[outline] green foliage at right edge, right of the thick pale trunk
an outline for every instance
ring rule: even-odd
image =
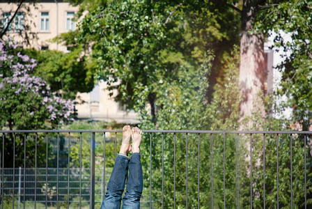
[[[279,93],[295,107],[296,120],[311,117],[311,8],[311,1],[270,1],[256,22],[256,30],[276,34],[272,47],[283,52],[284,59],[277,66],[283,74]]]

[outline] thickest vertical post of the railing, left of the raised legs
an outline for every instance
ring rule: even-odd
[[[117,135],[116,135],[117,136]],[[91,132],[91,157],[90,157],[90,166],[91,166],[91,173],[90,173],[90,209],[94,209],[95,207],[95,132]],[[115,147],[116,148],[116,147]],[[116,155],[116,153],[115,153]]]

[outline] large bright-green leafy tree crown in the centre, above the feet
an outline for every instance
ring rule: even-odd
[[[222,57],[228,48],[221,42],[235,42],[236,28],[226,22],[233,15],[221,15],[223,20],[212,13],[217,8],[204,5],[210,3],[111,1],[88,10],[79,41],[91,43],[100,78],[118,89],[116,100],[143,115],[150,104],[155,123],[162,107],[158,85],[176,80],[182,68],[198,68],[208,48],[219,47]]]

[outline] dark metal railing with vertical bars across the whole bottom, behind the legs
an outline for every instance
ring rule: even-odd
[[[141,208],[312,206],[312,132],[143,133]],[[99,208],[121,136],[122,130],[0,131],[1,209]]]

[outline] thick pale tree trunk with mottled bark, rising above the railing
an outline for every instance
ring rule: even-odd
[[[263,104],[263,84],[265,80],[265,54],[263,34],[251,33],[253,20],[258,10],[258,2],[245,0],[242,8],[242,34],[240,40],[240,130],[251,129],[253,112],[260,111],[265,116]],[[244,120],[247,120],[246,122]]]

